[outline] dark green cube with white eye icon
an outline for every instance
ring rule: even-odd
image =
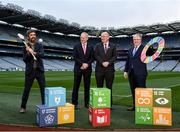
[[[171,89],[154,88],[153,89],[154,107],[171,107]]]

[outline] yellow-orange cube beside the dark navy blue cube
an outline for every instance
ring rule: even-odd
[[[74,105],[66,103],[58,107],[58,124],[74,123]]]

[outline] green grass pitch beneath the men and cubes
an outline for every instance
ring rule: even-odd
[[[46,86],[62,86],[67,90],[67,102],[71,102],[73,87],[73,72],[46,72]],[[147,87],[171,88],[173,106],[173,126],[180,128],[180,72],[149,72]],[[30,92],[27,104],[27,113],[19,114],[20,101],[24,87],[24,72],[0,72],[0,123],[35,125],[35,105],[40,103],[40,92],[37,82]],[[91,87],[96,87],[94,72],[91,78]],[[79,92],[79,103],[83,106],[83,81]],[[126,111],[132,104],[129,83],[123,78],[121,71],[116,71],[113,83],[113,105],[111,111],[111,126],[98,129],[123,128],[164,128],[160,126],[135,125],[134,112]],[[88,110],[81,108],[76,111],[74,124],[63,127],[92,128],[88,122]],[[171,127],[170,127],[171,128]]]

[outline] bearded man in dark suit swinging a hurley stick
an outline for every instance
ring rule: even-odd
[[[33,85],[34,79],[38,81],[42,104],[44,104],[44,88],[45,76],[43,66],[44,49],[43,46],[36,42],[36,32],[34,30],[27,31],[28,46],[23,47],[23,61],[26,64],[25,68],[25,87],[22,95],[22,103],[20,113],[26,112],[26,103],[29,97],[30,89]],[[37,60],[33,59],[32,54]]]

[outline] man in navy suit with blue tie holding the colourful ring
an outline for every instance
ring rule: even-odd
[[[146,87],[147,67],[146,64],[141,61],[141,52],[144,48],[141,42],[141,34],[135,34],[133,36],[133,47],[129,49],[124,69],[124,78],[129,79],[133,97],[133,107],[128,108],[128,111],[135,110],[135,88]]]

